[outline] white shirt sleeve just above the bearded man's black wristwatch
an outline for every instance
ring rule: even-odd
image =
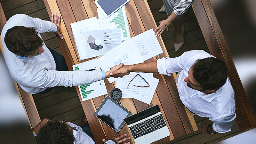
[[[212,120],[212,128],[215,132],[225,133],[231,131],[231,127],[235,122],[236,113],[222,116],[218,119]]]

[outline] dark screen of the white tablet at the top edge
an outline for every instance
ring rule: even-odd
[[[107,15],[114,12],[118,7],[127,2],[127,0],[99,0],[97,1]]]

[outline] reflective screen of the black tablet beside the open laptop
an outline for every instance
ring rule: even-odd
[[[110,127],[112,127],[113,129],[118,129],[128,113],[108,99],[98,112],[98,115],[99,116],[97,117],[99,117]]]

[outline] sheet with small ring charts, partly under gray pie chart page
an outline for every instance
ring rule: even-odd
[[[72,33],[76,43],[76,50],[78,53],[79,60],[92,58],[93,56],[86,56],[84,33],[87,30],[100,29],[100,23],[97,17],[74,22],[71,23],[70,26],[72,28]]]

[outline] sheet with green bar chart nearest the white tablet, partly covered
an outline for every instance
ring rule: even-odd
[[[106,18],[100,9],[97,8],[101,29],[122,28],[122,41],[131,38],[125,7]]]

